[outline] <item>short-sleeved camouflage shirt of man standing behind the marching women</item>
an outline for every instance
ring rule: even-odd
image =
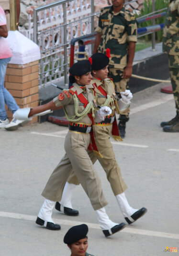
[[[101,35],[98,52],[111,50],[109,67],[123,69],[127,65],[129,42],[137,42],[137,23],[132,12],[123,8],[114,13],[112,6],[101,9],[99,25],[95,29]]]

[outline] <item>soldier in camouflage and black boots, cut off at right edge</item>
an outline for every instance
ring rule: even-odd
[[[163,51],[168,53],[169,73],[177,115],[168,122],[161,122],[164,132],[179,132],[179,0],[170,0],[166,14]]]

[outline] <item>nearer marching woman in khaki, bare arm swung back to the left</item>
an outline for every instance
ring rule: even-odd
[[[111,113],[111,109],[108,107],[95,110],[93,85],[90,84],[92,78],[90,72],[91,64],[88,60],[78,61],[69,69],[71,74],[69,80],[74,83],[69,90],[63,90],[58,97],[43,106],[32,110],[18,110],[14,116],[22,119],[25,111],[27,112],[26,116],[31,117],[45,110],[63,107],[69,121],[69,131],[65,139],[66,154],[56,166],[45,186],[42,193],[45,201],[39,211],[36,223],[50,230],[60,230],[60,225],[55,224],[52,219],[52,210],[56,201],[61,200],[63,189],[60,192],[60,188],[64,187],[70,173],[74,170],[89,197],[93,209],[97,213],[104,235],[109,236],[122,230],[126,225],[125,223],[112,222],[106,214],[104,207],[108,203],[102,192],[100,178],[94,170],[87,153],[91,137],[93,150],[100,155],[92,131],[94,117],[96,116],[102,121],[108,112]]]

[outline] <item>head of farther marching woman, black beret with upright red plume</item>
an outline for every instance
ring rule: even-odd
[[[108,77],[108,64],[110,61],[110,49],[106,49],[106,54],[96,52],[91,56],[92,75],[100,80]]]

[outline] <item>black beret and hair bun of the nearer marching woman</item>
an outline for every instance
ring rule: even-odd
[[[70,83],[75,83],[76,78],[75,76],[82,76],[83,74],[86,74],[88,72],[91,72],[91,63],[89,60],[83,60],[78,61],[74,63],[71,68],[69,69],[69,81]]]

